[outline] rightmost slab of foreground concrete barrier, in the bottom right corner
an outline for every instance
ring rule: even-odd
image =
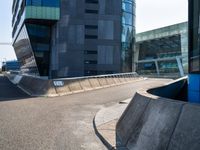
[[[188,104],[183,107],[169,150],[200,149],[200,106]]]

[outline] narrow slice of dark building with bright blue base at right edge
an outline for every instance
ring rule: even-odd
[[[200,103],[200,1],[189,0],[189,91],[190,102]]]

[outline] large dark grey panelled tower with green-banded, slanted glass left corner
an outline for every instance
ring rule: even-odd
[[[49,78],[132,71],[135,0],[14,0],[21,70]]]

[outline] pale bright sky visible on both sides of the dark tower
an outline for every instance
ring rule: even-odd
[[[0,1],[0,42],[11,42],[12,1]],[[143,32],[187,21],[188,0],[136,0],[136,31]],[[16,59],[12,46],[0,46],[1,61]]]

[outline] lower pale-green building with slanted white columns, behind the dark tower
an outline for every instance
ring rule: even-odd
[[[140,74],[188,73],[188,23],[136,35],[134,71]]]

